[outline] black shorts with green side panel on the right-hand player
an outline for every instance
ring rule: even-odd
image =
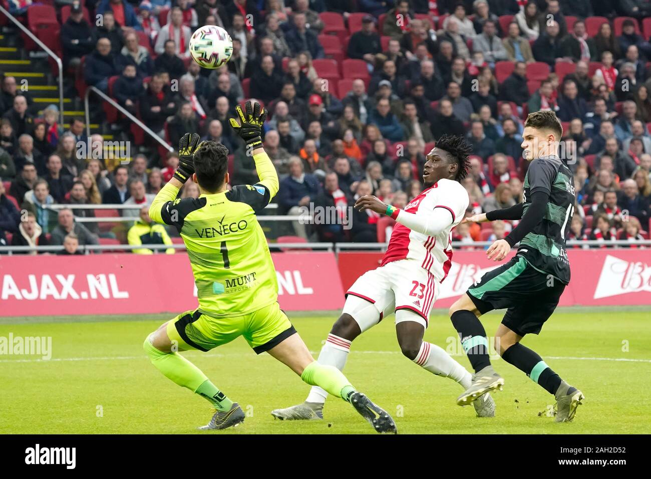
[[[561,280],[533,268],[515,255],[501,267],[490,270],[468,288],[468,296],[480,313],[506,310],[502,324],[524,336],[538,334],[565,289]]]

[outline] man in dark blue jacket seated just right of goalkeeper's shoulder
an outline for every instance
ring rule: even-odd
[[[281,182],[278,204],[284,213],[298,216],[303,212],[302,207],[307,207],[320,195],[321,186],[314,175],[303,172],[300,158],[290,159],[289,172],[289,176]],[[307,239],[303,222],[293,221],[292,225],[297,236]]]

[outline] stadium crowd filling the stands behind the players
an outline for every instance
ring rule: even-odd
[[[25,14],[31,2],[9,4]],[[522,199],[527,169],[523,119],[552,109],[575,175],[570,239],[648,239],[647,0],[87,0],[63,8],[66,85],[77,85],[76,75],[105,91],[173,147],[185,132],[221,141],[231,152],[231,184],[257,176],[227,119],[246,98],[262,102],[264,145],[281,179],[275,214],[330,207],[343,219],[365,194],[404,208],[421,192],[425,154],[443,134],[473,145],[467,215],[509,207]],[[102,22],[89,23],[89,11]],[[207,24],[233,40],[229,63],[217,70],[188,53],[191,33]],[[153,225],[143,206],[171,178],[174,154],[145,139],[145,154],[109,165],[85,154],[96,145],[104,151],[104,139],[85,138],[83,119],[63,128],[54,105],[39,116],[11,76],[1,90],[0,246],[61,244],[71,254],[75,242],[115,238],[75,220],[94,214],[75,208],[83,203],[134,205],[120,210],[135,221],[122,239],[172,243],[177,233]],[[130,123],[118,119],[117,138],[135,141]],[[186,184],[181,195],[199,190]],[[53,203],[70,209],[51,210]],[[393,221],[356,210],[346,218],[350,229],[345,221],[295,221],[293,233],[383,242]],[[473,248],[513,226],[486,225],[459,225],[454,239]]]

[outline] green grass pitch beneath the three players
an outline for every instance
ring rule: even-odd
[[[291,316],[315,356],[338,314]],[[197,433],[210,420],[208,403],[163,377],[142,349],[146,335],[170,317],[0,319],[0,337],[52,338],[50,360],[0,355],[0,433]],[[500,319],[498,313],[484,317],[489,336]],[[456,405],[459,385],[400,354],[393,317],[354,341],[344,373],[393,414],[398,433],[648,433],[650,320],[648,309],[564,309],[541,336],[525,338],[585,394],[572,423],[555,424],[546,415],[553,396],[501,359],[493,360],[506,381],[493,394],[497,416],[476,418],[473,407]],[[425,338],[469,367],[443,310],[432,314]],[[322,421],[273,420],[271,409],[303,401],[309,386],[270,356],[256,356],[242,338],[210,353],[184,355],[247,413],[236,429],[202,434],[374,433],[335,398],[328,399]]]

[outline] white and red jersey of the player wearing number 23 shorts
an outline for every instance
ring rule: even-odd
[[[400,259],[414,259],[438,282],[442,282],[452,266],[450,231],[464,219],[468,203],[468,193],[458,181],[441,179],[421,192],[405,207],[406,212],[417,215],[431,214],[436,208],[444,208],[450,212],[452,222],[436,236],[417,233],[396,223],[381,266]]]

